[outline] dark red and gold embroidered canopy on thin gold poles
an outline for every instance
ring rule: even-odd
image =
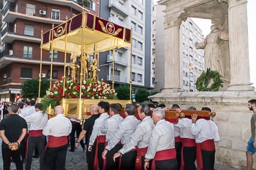
[[[42,34],[42,49],[66,53],[81,53],[86,46],[86,53],[92,55],[113,48],[129,47],[132,31],[118,26],[87,12],[82,12],[59,26]]]

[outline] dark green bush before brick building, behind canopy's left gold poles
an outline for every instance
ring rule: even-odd
[[[40,97],[45,96],[46,90],[50,86],[50,81],[43,79],[41,82],[41,90],[40,90]],[[38,98],[38,88],[39,88],[39,80],[38,79],[31,79],[26,80],[23,82],[21,87],[21,94],[23,98]]]

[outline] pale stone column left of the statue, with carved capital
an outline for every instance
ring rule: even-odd
[[[162,92],[181,90],[179,28],[185,16],[184,11],[165,16],[165,87]]]

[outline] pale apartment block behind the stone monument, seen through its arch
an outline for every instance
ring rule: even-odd
[[[155,90],[161,91],[165,85],[165,6],[156,4],[154,20],[155,39]],[[203,33],[191,18],[180,26],[180,80],[182,91],[196,91],[197,77],[205,70],[203,50],[195,49],[195,42],[203,41]],[[178,63],[178,61],[177,61]]]

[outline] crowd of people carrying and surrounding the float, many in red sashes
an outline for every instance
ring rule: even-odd
[[[249,109],[255,108],[255,101],[249,101]],[[182,111],[178,104],[170,109]],[[69,144],[70,152],[80,144],[89,170],[214,170],[214,142],[220,137],[213,119],[192,114],[172,122],[165,118],[165,110],[165,104],[127,104],[123,109],[121,104],[99,101],[80,125],[64,117],[61,105],[48,119],[42,104],[34,100],[10,104],[0,122],[3,169],[9,170],[12,160],[18,170],[23,163],[31,169],[37,150],[40,170],[64,170]],[[201,110],[211,112],[208,107]],[[254,152],[247,150],[249,161]]]

